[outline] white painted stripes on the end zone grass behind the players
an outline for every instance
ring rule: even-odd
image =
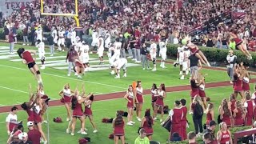
[[[0,46],[0,60],[2,60],[2,59],[8,59],[12,62],[22,62],[22,59],[18,57],[18,54],[11,55],[9,53],[8,46]],[[105,60],[104,65],[98,65],[98,63],[99,63],[98,58],[90,58],[89,62],[90,62],[90,71],[110,69],[110,64],[109,64],[108,60]],[[39,66],[41,65],[39,58],[37,58],[37,64]],[[68,63],[66,62],[66,55],[50,57],[50,53],[46,53],[45,66],[46,66],[46,69],[47,69],[47,67],[51,67],[51,68],[54,68],[57,70],[67,70]],[[140,66],[140,65],[134,64],[134,63],[128,63],[127,67],[130,67],[130,66]]]

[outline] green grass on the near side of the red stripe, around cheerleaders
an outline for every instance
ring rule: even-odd
[[[230,92],[232,91],[231,86],[225,86],[225,87],[219,87],[219,88],[208,88],[206,89],[206,94],[210,96],[211,102],[214,103],[214,111],[215,111],[215,120],[217,120],[218,117],[218,106],[221,102],[222,98],[228,98],[230,95]],[[189,107],[190,102],[190,96],[189,91],[182,91],[182,92],[172,92],[167,94],[167,98],[165,99],[165,105],[170,106],[172,108],[174,106],[174,101],[180,98],[186,98],[187,101],[187,107]],[[150,105],[150,95],[145,96],[145,104],[143,106],[143,112],[146,110],[146,108],[151,109]],[[98,127],[98,133],[93,134],[93,128],[90,125],[90,122],[88,119],[86,119],[86,128],[89,130],[87,137],[90,137],[92,142],[94,144],[110,144],[114,143],[113,140],[110,140],[108,138],[108,135],[112,132],[112,126],[111,124],[102,123],[102,118],[114,118],[116,110],[126,110],[126,100],[123,98],[117,99],[117,100],[111,100],[111,101],[102,101],[102,102],[94,102],[93,106],[93,113],[94,113],[94,122],[96,123],[96,126]],[[151,111],[152,114],[152,111]],[[3,123],[7,114],[0,114],[0,127],[2,127],[2,130],[0,131],[0,143],[6,142],[6,128],[5,124]],[[24,111],[18,112],[18,120],[23,120],[23,122],[26,123],[26,113]],[[82,138],[81,134],[75,134],[74,136],[71,136],[70,134],[66,134],[66,126],[68,125],[68,122],[63,123],[54,123],[52,121],[53,118],[61,117],[62,120],[66,120],[66,110],[64,106],[56,106],[56,107],[50,107],[49,108],[49,119],[50,119],[50,141],[51,143],[70,143],[75,144],[78,143],[78,138]],[[166,118],[166,114],[164,118]],[[158,115],[159,117],[159,115]],[[203,116],[203,123],[206,122],[205,119],[206,115]],[[190,128],[187,129],[188,131],[194,130],[194,124],[192,122],[192,115],[187,115],[187,118],[190,122]],[[126,120],[126,118],[125,118]],[[134,122],[136,124],[134,126],[126,126],[126,142],[129,144],[134,142],[134,139],[137,138],[138,134],[138,126],[139,122],[136,119],[136,116],[134,115]],[[77,122],[76,130],[79,130],[79,123]],[[46,132],[46,124],[44,124],[44,131]],[[26,126],[25,126],[26,129]],[[218,130],[218,128],[216,128]],[[153,138],[156,141],[159,141],[161,143],[165,143],[166,139],[169,137],[169,133],[160,126],[159,120],[154,122],[154,135]]]

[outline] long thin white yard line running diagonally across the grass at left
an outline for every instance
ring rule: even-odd
[[[6,66],[6,65],[1,65],[1,64],[0,64],[0,66],[9,67],[9,68],[12,68],[12,69],[17,69],[17,70],[26,70],[26,71],[29,71],[29,70],[27,70],[27,69],[22,69],[22,68],[18,68],[18,67],[14,67],[14,66]],[[49,74],[49,73],[45,73],[45,72],[43,72],[42,74],[46,74],[46,75],[50,75],[50,76],[54,76],[54,77],[58,77],[58,78],[66,78],[66,79],[71,79],[71,80],[76,80],[76,81],[81,81],[81,82],[88,82],[88,83],[93,83],[93,84],[97,84],[97,85],[109,86],[109,87],[114,87],[114,88],[126,90],[126,88],[124,88],[124,87],[112,86],[112,85],[108,85],[108,84],[104,84],[104,83],[100,83],[100,82],[83,81],[83,80],[79,80],[79,79],[77,79],[77,78],[68,78],[68,77],[64,77],[64,76],[57,75],[57,74]]]

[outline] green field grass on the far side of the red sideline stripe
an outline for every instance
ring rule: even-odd
[[[0,46],[9,46],[6,43],[0,43]],[[15,46],[15,50],[18,49]],[[26,46],[26,49],[36,49],[33,46]],[[57,50],[56,50],[57,51]],[[46,52],[49,52],[46,49]],[[65,55],[66,52],[60,52],[55,55]],[[46,58],[49,54],[46,54]],[[96,58],[96,54],[90,55],[91,58]],[[15,56],[14,58],[18,58]],[[34,76],[30,74],[27,66],[22,64],[22,62],[11,62],[11,59],[0,60],[1,71],[0,74],[0,90],[5,91],[5,95],[11,95],[11,98],[2,98],[0,105],[11,105],[18,101],[26,101],[28,91],[28,84],[31,83],[33,89],[36,89],[37,82]],[[52,59],[50,59],[52,60]],[[40,63],[40,62],[38,62]],[[150,62],[151,64],[151,62]],[[159,63],[158,63],[159,65]],[[91,71],[85,74],[82,80],[78,80],[74,75],[67,77],[67,70],[56,70],[52,67],[46,67],[45,70],[41,70],[42,79],[45,85],[46,94],[50,95],[51,98],[59,98],[58,91],[62,90],[62,86],[69,82],[71,89],[74,90],[77,82],[85,82],[86,91],[94,92],[95,94],[106,94],[113,93],[115,91],[124,91],[127,86],[136,80],[142,81],[142,86],[144,89],[150,88],[153,82],[158,85],[162,82],[166,86],[180,86],[187,85],[188,80],[179,80],[179,69],[174,66],[167,64],[167,69],[158,68],[158,71],[152,72],[151,70],[142,70],[142,66],[133,66],[127,68],[127,78],[114,79],[113,75],[110,75],[110,70],[98,70]],[[122,73],[122,71],[121,71]],[[226,76],[226,72],[216,70],[202,70],[203,74],[208,74],[206,82],[220,82],[226,81],[229,78]],[[121,74],[122,75],[122,74]],[[6,90],[5,88],[10,88],[20,91]],[[13,93],[13,94],[12,94]]]

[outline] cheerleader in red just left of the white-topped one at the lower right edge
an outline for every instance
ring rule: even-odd
[[[233,110],[234,126],[244,126],[244,118],[246,113],[242,107],[242,102],[235,102],[235,109]]]

